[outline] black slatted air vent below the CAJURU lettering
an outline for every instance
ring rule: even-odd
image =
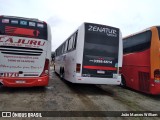
[[[15,47],[15,46],[0,46],[0,51],[3,54],[28,55],[28,56],[40,56],[43,52],[43,50],[40,48]]]

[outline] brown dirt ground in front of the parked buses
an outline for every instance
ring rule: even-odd
[[[71,84],[51,68],[47,87],[0,87],[0,111],[160,111],[160,96],[120,86]],[[158,117],[44,117],[4,120],[158,120]],[[0,118],[0,120],[3,120]]]

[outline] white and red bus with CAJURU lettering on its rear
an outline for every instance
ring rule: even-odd
[[[0,84],[47,86],[51,32],[46,22],[0,16]]]

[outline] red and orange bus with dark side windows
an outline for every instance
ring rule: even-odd
[[[160,94],[160,26],[123,38],[122,85]]]

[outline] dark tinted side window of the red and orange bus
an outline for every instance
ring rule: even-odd
[[[151,34],[151,31],[146,31],[123,39],[123,52],[132,53],[148,49],[151,43]]]

